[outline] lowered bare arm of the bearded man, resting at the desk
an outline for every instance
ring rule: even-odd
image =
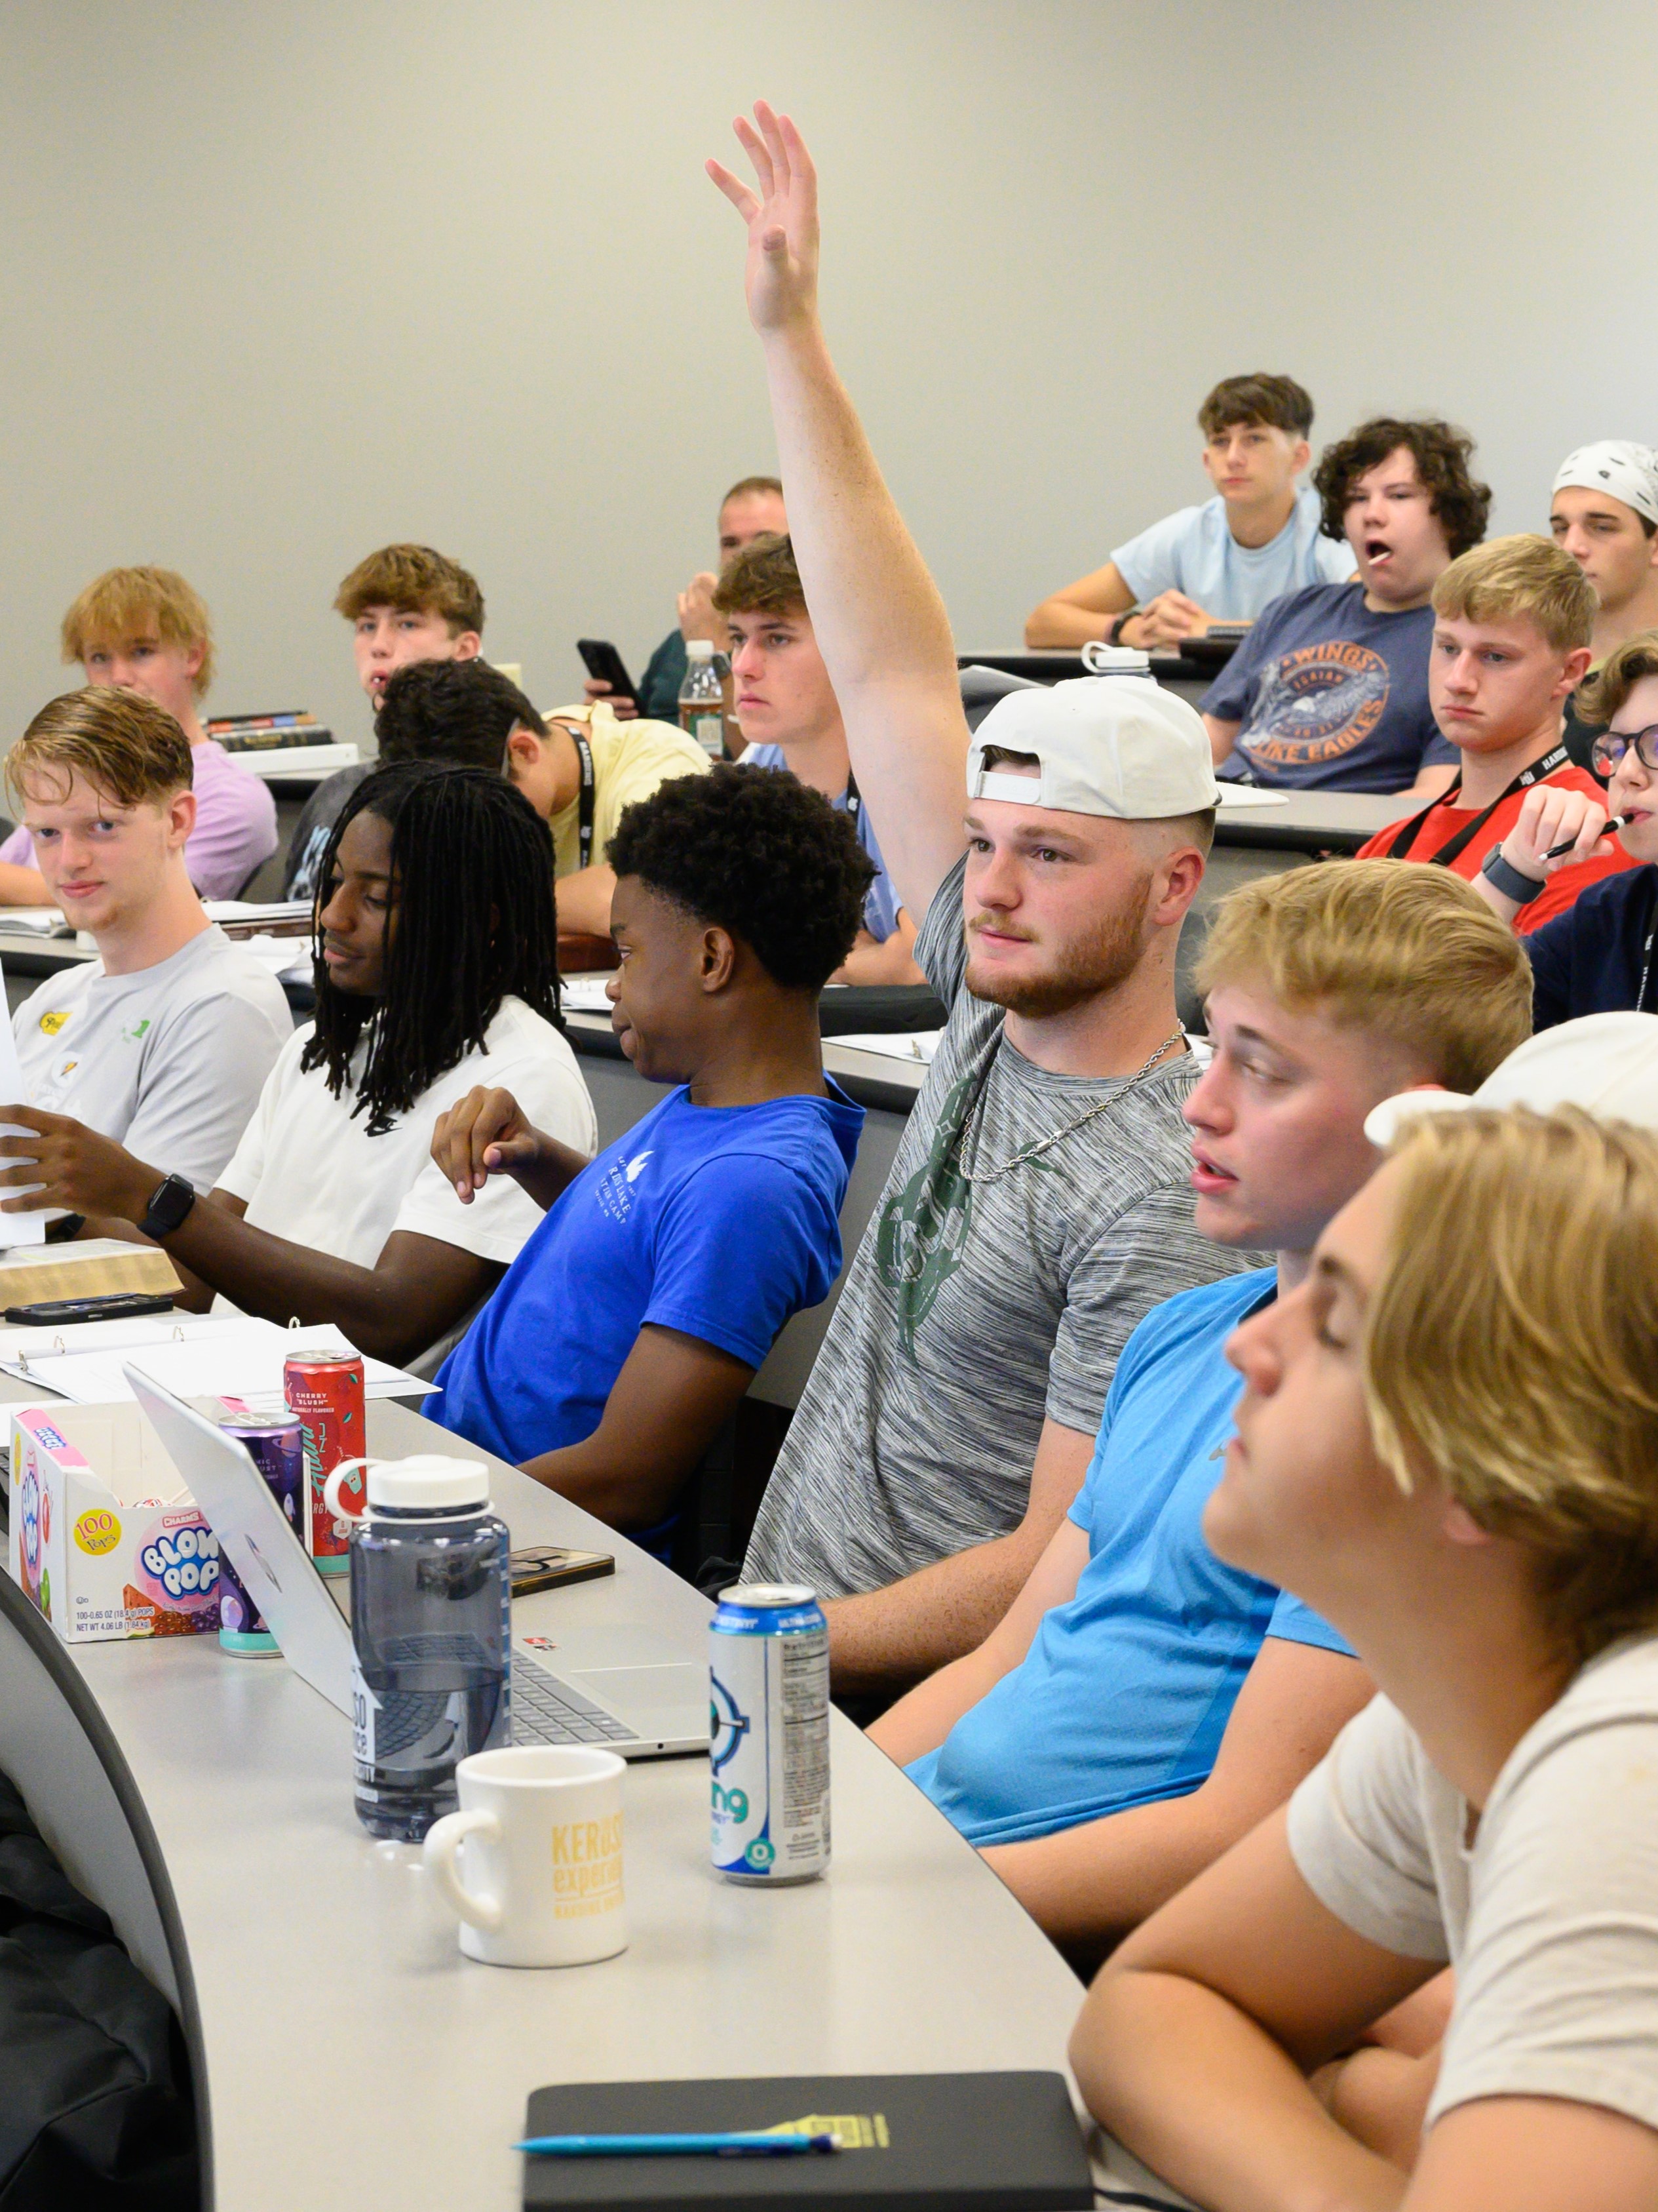
[[[836,1690],[891,1690],[977,1650],[1070,1511],[1092,1451],[1092,1436],[1061,1429],[1057,1420],[1043,1422],[1030,1469],[1030,1502],[1017,1528],[951,1559],[935,1559],[884,1590],[833,1599],[825,1610]]]

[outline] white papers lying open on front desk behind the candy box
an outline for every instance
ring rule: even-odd
[[[323,1345],[343,1345],[345,1338],[327,1323],[309,1329],[279,1329],[274,1321],[250,1321],[248,1316],[206,1316],[217,1327],[203,1332],[188,1323],[157,1325],[164,1336],[148,1343],[119,1345],[111,1338],[95,1347],[66,1347],[64,1352],[29,1352],[29,1363],[2,1360],[7,1374],[40,1383],[44,1389],[73,1400],[75,1405],[117,1405],[133,1391],[124,1376],[130,1360],[146,1376],[175,1391],[179,1398],[245,1398],[256,1411],[281,1405],[283,1360],[290,1352],[314,1352]],[[84,1323],[82,1327],[97,1327]],[[51,1332],[33,1332],[51,1334]],[[73,1338],[75,1329],[55,1332]],[[365,1389],[369,1398],[424,1396],[436,1385],[420,1383],[400,1367],[385,1360],[363,1360]]]

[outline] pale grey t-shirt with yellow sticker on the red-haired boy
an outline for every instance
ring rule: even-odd
[[[210,925],[170,960],[60,969],[11,1015],[29,1104],[210,1190],[294,1015],[270,969]]]

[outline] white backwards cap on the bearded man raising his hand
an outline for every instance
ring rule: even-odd
[[[986,750],[1035,754],[1041,774],[986,768]],[[1143,823],[1220,805],[1220,785],[1196,708],[1150,677],[1110,675],[997,699],[973,734],[968,799]]]

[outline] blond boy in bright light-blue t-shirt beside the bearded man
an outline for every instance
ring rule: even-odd
[[[1525,956],[1468,885],[1326,860],[1214,916],[1214,1060],[1185,1102],[1205,1237],[1276,1250],[1156,1307],[1088,1480],[1006,1619],[871,1730],[1070,1955],[1099,1958],[1282,1803],[1371,1686],[1318,1615],[1216,1559],[1236,1325],[1304,1279],[1375,1166],[1364,1117],[1472,1091],[1530,1029]]]

